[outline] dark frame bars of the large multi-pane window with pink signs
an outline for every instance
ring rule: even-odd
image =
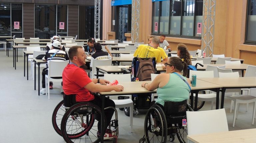
[[[194,36],[195,35],[195,22],[196,22],[196,7],[197,7],[197,0],[195,0],[195,10],[194,10],[194,15],[193,15],[193,36],[185,36],[185,35],[182,35],[182,17],[183,17],[183,14],[184,14],[184,0],[181,0],[181,16],[180,16],[180,34],[179,35],[171,35],[170,34],[170,24],[171,24],[171,2],[172,0],[169,0],[170,2],[170,7],[169,7],[169,25],[168,25],[168,34],[160,34],[159,32],[159,28],[160,28],[160,17],[161,17],[161,14],[162,14],[162,1],[159,1],[159,16],[158,16],[158,32],[157,34],[156,33],[153,33],[153,26],[154,26],[154,23],[153,23],[153,13],[154,13],[154,3],[155,2],[152,2],[152,27],[151,27],[151,35],[155,35],[155,36],[160,36],[160,35],[165,35],[165,36],[171,36],[171,37],[180,37],[180,38],[194,38],[194,39],[201,39],[201,36]]]

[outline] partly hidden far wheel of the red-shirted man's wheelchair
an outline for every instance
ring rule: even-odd
[[[61,119],[64,115],[64,113],[66,112],[66,109],[64,107],[62,107],[62,105],[64,104],[64,101],[62,100],[53,110],[52,113],[52,125],[54,130],[60,135],[61,135],[61,131],[60,131],[60,124],[61,124]]]

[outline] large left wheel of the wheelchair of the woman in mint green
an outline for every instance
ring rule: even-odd
[[[167,140],[167,122],[161,107],[153,105],[146,113],[144,134],[147,143],[165,143]]]

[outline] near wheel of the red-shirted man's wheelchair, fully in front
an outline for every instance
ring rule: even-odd
[[[97,136],[97,131],[100,117],[101,110],[94,104],[83,102],[73,105],[61,120],[62,137],[67,143],[99,142],[100,136]],[[106,117],[104,117],[105,122]],[[105,124],[104,128],[106,128]]]

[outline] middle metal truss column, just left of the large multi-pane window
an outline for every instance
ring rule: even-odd
[[[140,0],[132,0],[132,27],[131,27],[132,42],[139,42],[139,15],[140,15]]]

